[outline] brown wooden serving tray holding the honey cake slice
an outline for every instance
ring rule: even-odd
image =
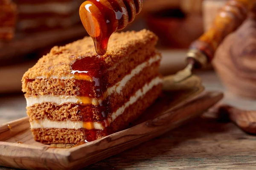
[[[172,82],[172,77],[167,77],[164,84],[168,82]],[[47,145],[35,142],[28,117],[1,125],[0,165],[22,169],[85,167],[183,125],[223,97],[219,92],[202,93],[201,80],[195,76],[181,88],[170,87],[165,87],[169,92],[164,92],[131,127],[85,144]]]

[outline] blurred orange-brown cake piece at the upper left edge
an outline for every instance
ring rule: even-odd
[[[0,0],[0,40],[12,40],[16,26],[16,5],[10,0]]]

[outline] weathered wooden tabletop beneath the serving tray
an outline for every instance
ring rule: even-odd
[[[256,110],[255,101],[226,91],[214,71],[198,75],[207,90],[225,92],[222,102]],[[23,116],[26,116],[23,95],[0,97],[0,124]],[[256,169],[255,156],[256,136],[244,133],[231,122],[205,116],[86,169]]]

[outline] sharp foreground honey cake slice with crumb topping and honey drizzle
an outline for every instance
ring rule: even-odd
[[[151,31],[114,33],[104,56],[90,37],[53,47],[23,76],[34,139],[89,142],[127,127],[161,94]]]

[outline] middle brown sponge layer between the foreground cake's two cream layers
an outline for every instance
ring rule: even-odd
[[[160,61],[158,60],[157,62],[148,65],[148,67],[144,68],[140,74],[132,77],[125,87],[122,88],[120,93],[115,92],[108,96],[108,98],[102,102],[106,108],[105,115],[109,115],[109,113],[116,111],[119,107],[124,105],[125,102],[128,102],[130,96],[133,96],[146,82],[150,82],[154,77],[158,77],[159,64]],[[81,121],[81,118],[84,117],[84,121],[87,122],[93,120],[102,121],[105,119],[105,117],[99,113],[96,106],[70,102],[61,105],[54,102],[37,103],[27,107],[27,114],[31,120],[49,119],[52,121]]]

